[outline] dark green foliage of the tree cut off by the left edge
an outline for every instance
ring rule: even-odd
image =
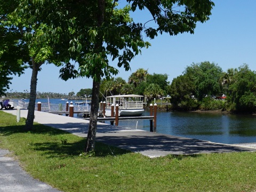
[[[18,21],[11,17],[11,13],[18,5],[18,1],[0,1],[0,95],[5,95],[11,75],[20,76],[26,68],[24,63],[29,61],[27,46],[22,42]],[[24,61],[24,62],[21,62]]]

